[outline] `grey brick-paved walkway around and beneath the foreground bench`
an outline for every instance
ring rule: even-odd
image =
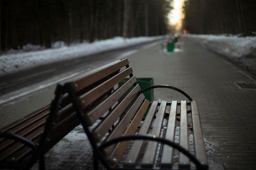
[[[225,170],[255,170],[256,91],[241,90],[235,84],[254,80],[191,40],[185,38],[183,43],[183,52],[171,55],[160,52],[157,45],[129,56],[135,75],[154,77],[155,84],[177,86],[198,101],[208,159],[215,165],[211,170],[222,166]],[[155,99],[180,97],[167,91],[156,90]],[[84,135],[80,130],[78,127],[46,154],[47,169],[92,169],[86,137],[72,140]]]

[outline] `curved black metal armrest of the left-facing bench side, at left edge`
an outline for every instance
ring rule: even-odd
[[[18,141],[20,143],[23,143],[24,145],[37,150],[38,146],[36,145],[36,143],[32,142],[31,140],[17,135],[17,134],[9,134],[9,133],[0,133],[0,138],[6,138],[6,139],[13,139],[15,141]]]

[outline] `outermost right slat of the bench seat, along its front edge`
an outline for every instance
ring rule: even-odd
[[[205,153],[203,133],[202,133],[201,122],[200,122],[196,101],[191,102],[191,110],[192,110],[192,124],[193,124],[196,157],[200,161],[201,165],[205,169],[207,169],[208,163],[207,163],[207,158]]]

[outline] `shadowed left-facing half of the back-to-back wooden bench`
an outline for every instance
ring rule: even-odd
[[[61,85],[51,105],[0,129],[0,169],[30,169],[39,160],[44,170],[44,154],[71,132],[80,121]]]

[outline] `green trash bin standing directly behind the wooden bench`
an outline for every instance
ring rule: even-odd
[[[127,81],[127,79],[122,80],[118,83],[118,86],[121,86],[124,84],[124,82]],[[154,85],[154,78],[137,78],[137,83],[140,86],[141,90],[150,87]],[[150,102],[154,101],[154,89],[148,90],[144,93],[147,100]]]

